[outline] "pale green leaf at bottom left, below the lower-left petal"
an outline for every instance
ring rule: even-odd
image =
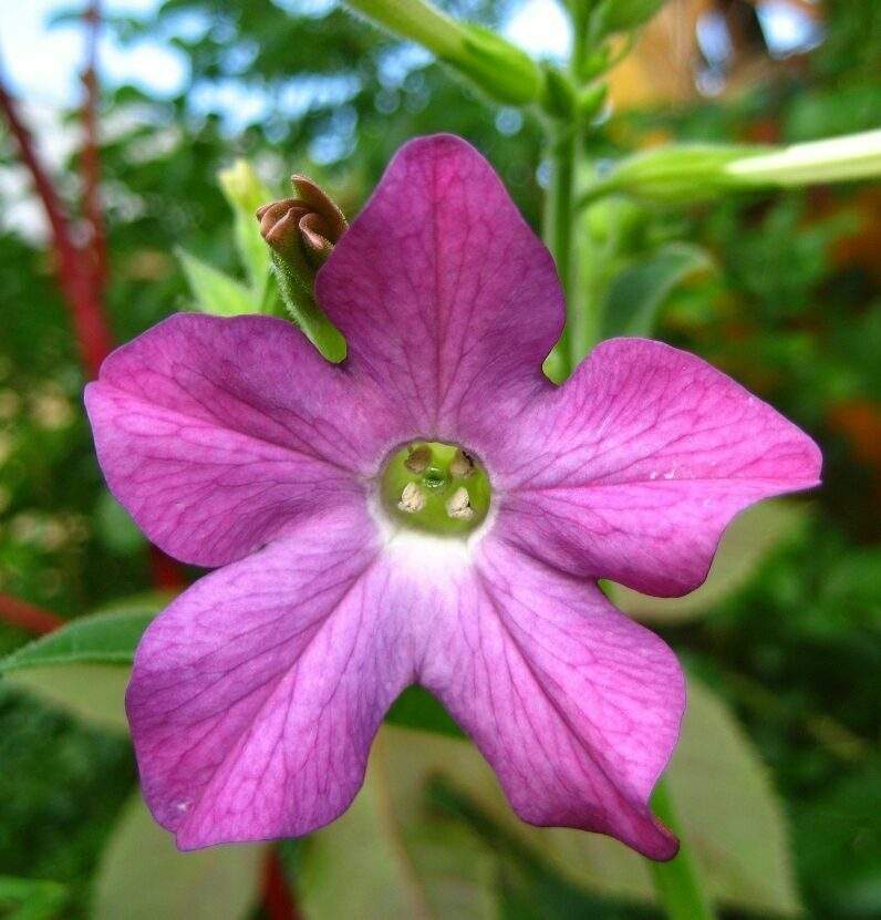
[[[95,878],[94,920],[242,920],[257,899],[266,846],[179,852],[141,795],[123,812]]]

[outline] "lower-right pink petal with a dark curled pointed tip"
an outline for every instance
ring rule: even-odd
[[[518,815],[674,856],[647,805],[685,706],[671,650],[595,585],[495,540],[447,607],[419,681],[474,737]]]

